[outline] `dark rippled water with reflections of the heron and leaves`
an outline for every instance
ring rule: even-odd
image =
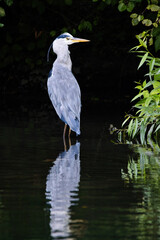
[[[2,114],[0,240],[160,239],[160,157],[112,143],[118,116],[82,117],[64,151],[53,113]]]

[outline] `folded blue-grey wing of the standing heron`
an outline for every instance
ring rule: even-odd
[[[48,92],[57,114],[64,122],[69,111],[80,120],[81,93],[71,71],[61,64],[54,65],[48,78]]]

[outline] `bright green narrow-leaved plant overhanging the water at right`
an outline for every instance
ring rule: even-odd
[[[135,116],[126,115],[122,126],[126,125],[126,132],[130,139],[139,136],[141,144],[146,139],[155,136],[160,130],[160,58],[154,57],[147,49],[146,33],[138,35],[139,45],[132,49],[141,58],[138,69],[145,63],[148,66],[147,79],[138,82],[138,94],[132,101],[138,100],[134,105],[137,109]],[[139,48],[143,48],[140,51]]]

